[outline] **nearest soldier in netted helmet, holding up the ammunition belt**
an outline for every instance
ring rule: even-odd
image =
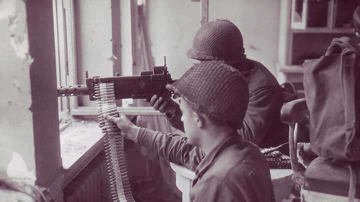
[[[122,137],[167,161],[197,161],[192,202],[274,201],[267,161],[236,131],[243,127],[248,104],[247,82],[239,71],[219,61],[203,61],[166,87],[179,96],[186,138],[137,127],[124,116],[104,118],[121,129]]]

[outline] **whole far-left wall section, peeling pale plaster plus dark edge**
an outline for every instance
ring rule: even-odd
[[[61,200],[53,28],[52,1],[0,1],[0,176]]]

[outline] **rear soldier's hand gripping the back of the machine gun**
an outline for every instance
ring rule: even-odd
[[[159,97],[158,95],[153,95],[151,99],[146,99],[146,102],[161,113],[171,113],[174,114],[176,111],[177,104],[170,97],[164,98]]]

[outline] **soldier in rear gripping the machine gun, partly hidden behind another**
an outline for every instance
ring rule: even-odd
[[[245,77],[249,88],[249,104],[241,120],[241,130],[238,130],[243,140],[260,148],[288,141],[287,126],[280,121],[282,90],[265,66],[246,58],[241,32],[232,22],[218,19],[203,24],[196,32],[187,56],[200,61],[223,61]],[[183,131],[181,111],[175,102],[157,95],[147,101],[155,110],[166,113],[173,127]]]

